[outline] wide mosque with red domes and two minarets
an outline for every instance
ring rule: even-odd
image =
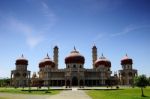
[[[137,70],[132,68],[133,60],[127,55],[121,59],[122,70],[111,76],[111,61],[103,54],[98,58],[97,47],[92,47],[91,69],[84,68],[85,57],[74,48],[64,61],[66,67],[59,69],[59,48],[54,47],[53,59],[47,56],[39,62],[38,74],[27,70],[28,60],[22,55],[16,60],[16,69],[11,71],[11,85],[25,86],[106,86],[109,81],[117,85],[132,85]]]

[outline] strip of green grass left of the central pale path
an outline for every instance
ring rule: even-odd
[[[1,93],[14,93],[14,94],[39,94],[39,95],[54,95],[54,94],[58,94],[60,93],[60,90],[51,90],[49,89],[49,91],[40,91],[40,90],[43,90],[43,89],[39,89],[39,90],[35,90],[33,89],[34,91],[32,91],[31,89],[31,92],[29,91],[22,91],[23,89],[22,88],[0,88],[0,92]],[[28,90],[28,88],[24,88],[24,90]],[[0,97],[0,99],[5,99],[3,97]]]

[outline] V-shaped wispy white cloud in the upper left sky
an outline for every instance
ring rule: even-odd
[[[37,1],[33,2],[37,3]],[[44,21],[45,23],[43,22],[41,24],[41,28],[36,28],[35,26],[33,27],[32,23],[22,21],[17,17],[14,17],[12,14],[7,13],[2,13],[3,15],[5,15],[5,17],[1,18],[4,21],[0,23],[0,28],[9,31],[8,33],[18,33],[18,35],[24,37],[26,44],[30,48],[36,47],[46,39],[45,35],[49,33],[48,31],[52,26],[54,26],[56,21],[56,16],[49,8],[48,4],[45,1],[40,1],[38,3],[40,3],[40,7],[38,6],[37,9],[41,11],[40,14],[43,15],[42,18],[44,20],[47,20],[46,22]]]

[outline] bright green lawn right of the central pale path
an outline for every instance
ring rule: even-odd
[[[150,87],[144,89],[146,97],[141,97],[140,88],[124,88],[123,90],[88,90],[92,99],[150,99]]]

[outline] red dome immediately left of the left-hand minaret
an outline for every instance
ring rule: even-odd
[[[52,67],[55,67],[55,63],[49,58],[48,54],[47,54],[47,56],[39,63],[39,67],[45,67],[45,65],[51,65]]]

